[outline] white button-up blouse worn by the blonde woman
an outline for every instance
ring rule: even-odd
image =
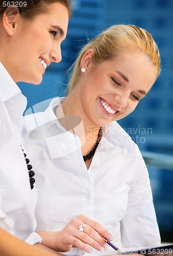
[[[160,245],[149,174],[138,146],[114,121],[104,128],[87,170],[79,138],[53,113],[62,100],[54,99],[45,112],[26,116],[23,136],[35,159],[37,231],[62,230],[83,214],[109,230],[119,248],[121,240],[125,247]],[[73,131],[83,127],[78,118],[71,122]]]

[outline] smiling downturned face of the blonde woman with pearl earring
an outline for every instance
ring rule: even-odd
[[[138,51],[122,52],[99,65],[95,65],[93,55],[93,49],[84,54],[81,67],[86,68],[85,74],[82,74],[85,79],[82,76],[79,78],[67,99],[70,95],[80,95],[82,100],[78,108],[83,122],[90,122],[95,128],[119,120],[134,111],[139,100],[153,86],[157,73],[151,60]]]

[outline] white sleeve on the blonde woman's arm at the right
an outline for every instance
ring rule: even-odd
[[[139,159],[141,166],[129,192],[126,215],[120,222],[121,238],[126,248],[161,244],[149,174],[142,157]]]

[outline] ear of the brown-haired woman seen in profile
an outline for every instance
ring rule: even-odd
[[[13,35],[16,26],[16,15],[20,13],[17,7],[7,7],[2,18],[2,25],[8,35]]]

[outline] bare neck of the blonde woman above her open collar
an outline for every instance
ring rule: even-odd
[[[59,122],[67,131],[79,137],[83,159],[87,168],[89,168],[95,150],[102,138],[102,129],[87,117],[81,100],[76,95],[80,94],[71,92],[58,106],[56,114],[57,117],[60,117],[63,113],[64,118],[59,118]]]

